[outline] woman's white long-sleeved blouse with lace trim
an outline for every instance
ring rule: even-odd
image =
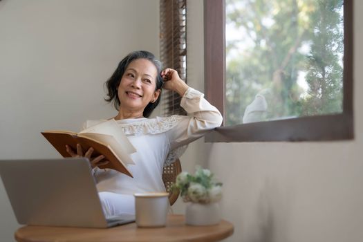
[[[165,192],[162,169],[185,151],[187,144],[219,127],[222,115],[205,100],[203,93],[189,87],[180,106],[188,116],[166,118],[135,118],[117,120],[137,152],[131,154],[135,165],[128,168],[133,178],[113,169],[95,167],[98,192],[134,194],[136,192]],[[104,120],[88,120],[84,128]]]

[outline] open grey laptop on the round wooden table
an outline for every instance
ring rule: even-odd
[[[113,227],[134,214],[106,218],[87,158],[0,160],[17,221],[26,225]]]

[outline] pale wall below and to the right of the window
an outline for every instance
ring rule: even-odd
[[[207,162],[223,182],[223,216],[235,226],[226,241],[362,241],[363,2],[354,4],[355,140],[198,142],[182,157],[187,162]],[[191,7],[194,16],[188,17],[196,22],[188,20],[188,29],[200,29],[188,31],[188,46],[203,39],[203,3],[188,1],[188,11]],[[200,55],[203,48],[188,48],[189,63]],[[194,69],[193,75],[202,76],[203,68]],[[205,151],[206,157],[201,156]],[[178,201],[177,210],[184,206]]]

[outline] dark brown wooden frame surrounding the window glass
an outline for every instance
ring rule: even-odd
[[[225,0],[204,1],[205,95],[225,117]],[[344,0],[343,112],[219,127],[205,142],[351,140],[353,132],[353,0]]]

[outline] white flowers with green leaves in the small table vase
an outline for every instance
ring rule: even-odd
[[[205,204],[218,202],[222,198],[222,183],[215,182],[212,172],[201,167],[196,167],[194,175],[185,171],[178,174],[171,189],[179,190],[185,202]]]

